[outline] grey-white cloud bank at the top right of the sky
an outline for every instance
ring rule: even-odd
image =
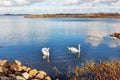
[[[120,6],[120,0],[64,0],[64,5],[82,5],[82,6]]]

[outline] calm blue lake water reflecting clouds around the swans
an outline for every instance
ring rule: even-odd
[[[85,60],[120,58],[120,40],[109,36],[113,32],[120,32],[120,19],[0,16],[0,59],[17,59],[49,74],[53,67],[66,73],[68,66],[81,66]],[[67,50],[78,44],[80,59]],[[50,63],[41,56],[43,47],[51,49]]]

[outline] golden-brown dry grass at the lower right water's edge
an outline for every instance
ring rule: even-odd
[[[86,61],[81,67],[76,67],[74,76],[70,76],[69,80],[120,80],[120,61]]]

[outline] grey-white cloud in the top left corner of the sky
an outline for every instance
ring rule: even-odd
[[[10,7],[10,6],[23,6],[30,5],[44,0],[0,0],[0,6]]]

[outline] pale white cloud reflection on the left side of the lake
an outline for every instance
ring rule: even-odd
[[[16,45],[19,43],[29,44],[29,42],[33,40],[33,37],[34,40],[39,43],[46,43],[52,34],[52,30],[54,29],[54,27],[50,27],[49,22],[44,22],[46,24],[44,25],[45,29],[38,26],[42,25],[42,22],[36,22],[36,27],[33,29],[33,27],[29,25],[29,20],[23,21],[22,18],[18,20],[14,20],[13,18],[5,18],[4,20],[0,19],[0,22],[4,21],[8,23],[4,27],[0,26],[0,34],[2,34],[0,36],[0,44],[5,45]],[[13,28],[13,21],[19,24],[16,27],[16,30]]]

